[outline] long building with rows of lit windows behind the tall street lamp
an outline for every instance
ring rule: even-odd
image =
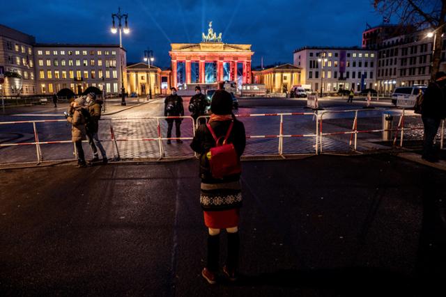
[[[121,63],[125,76],[125,49],[119,45],[34,46],[36,88],[39,94],[57,93],[69,88],[81,94],[89,86],[106,94],[121,93]]]

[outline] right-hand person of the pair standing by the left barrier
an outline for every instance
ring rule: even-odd
[[[86,137],[89,140],[90,148],[93,152],[93,159],[90,163],[99,161],[98,148],[102,156],[102,163],[108,163],[107,152],[105,152],[102,143],[99,140],[98,130],[99,130],[99,120],[102,111],[102,100],[96,97],[95,93],[89,93],[86,96],[86,110],[89,111],[90,118],[89,122],[86,124]]]

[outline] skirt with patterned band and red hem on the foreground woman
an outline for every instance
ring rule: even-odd
[[[242,192],[240,182],[201,183],[200,204],[204,224],[208,228],[225,229],[238,226]]]

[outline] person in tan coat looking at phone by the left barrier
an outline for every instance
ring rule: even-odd
[[[82,148],[82,141],[85,140],[85,114],[88,113],[83,108],[83,105],[78,101],[72,102],[68,106],[68,113],[66,113],[67,121],[72,125],[71,128],[71,141],[75,143],[77,150],[77,167],[85,167],[85,155]]]

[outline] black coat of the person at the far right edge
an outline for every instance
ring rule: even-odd
[[[429,83],[424,91],[421,114],[426,118],[446,117],[446,97],[444,83]]]

